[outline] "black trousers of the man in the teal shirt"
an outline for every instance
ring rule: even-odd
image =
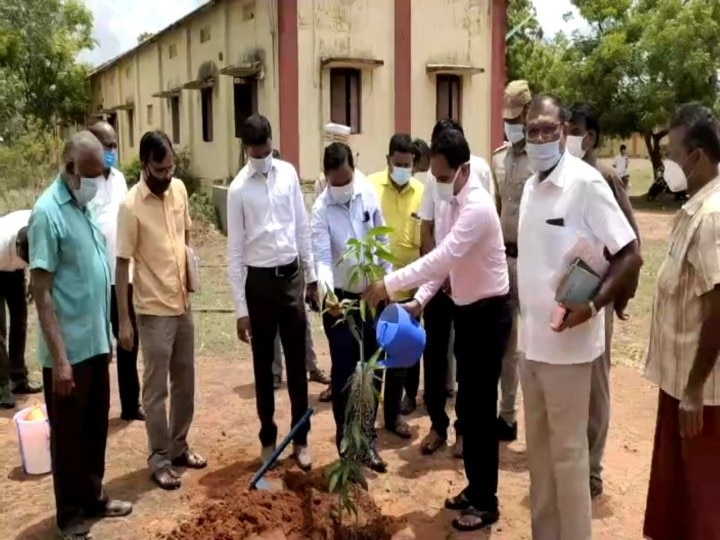
[[[110,412],[109,355],[72,366],[75,388],[53,393],[52,369],[43,368],[50,419],[50,455],[57,525],[63,530],[96,514],[106,502],[102,489]]]

